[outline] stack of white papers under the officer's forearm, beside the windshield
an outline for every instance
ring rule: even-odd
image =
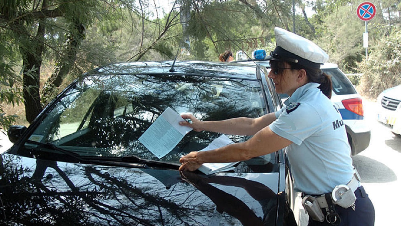
[[[225,136],[223,134],[223,135],[219,136],[218,138],[216,138],[215,140],[213,140],[209,144],[209,146],[200,150],[200,152],[207,151],[207,150],[213,150],[216,148],[221,148],[221,147],[227,146],[229,144],[234,144],[234,142],[232,140],[230,140],[230,138],[228,138],[227,136]],[[217,173],[217,172],[221,172],[221,171],[233,170],[234,169],[233,166],[237,163],[238,162],[204,163],[204,164],[202,164],[201,167],[198,168],[198,170],[206,175],[209,175],[209,174],[213,174],[213,173]]]

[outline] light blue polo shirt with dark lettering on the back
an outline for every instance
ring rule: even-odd
[[[319,85],[310,82],[295,90],[269,125],[275,134],[293,142],[287,154],[294,190],[310,195],[346,185],[354,174],[342,117]]]

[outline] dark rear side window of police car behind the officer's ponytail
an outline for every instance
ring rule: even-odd
[[[333,92],[337,95],[354,94],[356,90],[352,83],[346,78],[338,68],[322,69],[322,71],[331,76]]]

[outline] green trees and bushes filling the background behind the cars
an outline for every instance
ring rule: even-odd
[[[0,95],[4,103],[20,103],[22,76],[37,82],[45,80],[50,76],[44,74],[45,67],[54,68],[52,76],[62,74],[61,85],[46,86],[52,93],[41,93],[41,100],[50,100],[71,80],[111,62],[173,60],[177,53],[178,60],[217,61],[225,50],[242,50],[248,55],[255,49],[269,52],[275,47],[273,28],[292,31],[293,19],[296,33],[326,50],[330,62],[337,63],[345,73],[377,74],[361,78],[360,86],[370,87],[366,93],[379,92],[390,84],[389,74],[399,74],[397,51],[382,49],[388,39],[394,46],[398,43],[399,33],[393,33],[399,27],[399,18],[393,16],[389,20],[381,12],[399,11],[400,5],[392,0],[372,1],[377,14],[369,21],[369,62],[365,62],[363,48],[364,22],[356,16],[361,2],[356,0],[297,0],[295,18],[292,1],[282,0],[180,0],[174,7],[170,4],[165,13],[161,9],[155,11],[154,2],[149,0],[43,2],[0,1]],[[299,13],[306,4],[316,12],[311,18]],[[189,13],[181,12],[184,8]],[[38,45],[41,42],[43,45]],[[378,55],[391,60],[382,62]],[[22,64],[28,56],[35,58],[30,68]],[[32,67],[37,70],[30,70]],[[19,68],[26,71],[20,73]],[[381,81],[381,76],[387,77]],[[358,77],[354,82],[358,84]],[[369,91],[372,87],[378,90]],[[0,123],[12,120],[2,119],[2,109],[0,114]]]

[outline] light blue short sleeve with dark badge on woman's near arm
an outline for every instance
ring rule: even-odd
[[[282,113],[269,127],[275,134],[300,145],[321,129],[322,120],[314,107],[294,102],[282,109]]]

